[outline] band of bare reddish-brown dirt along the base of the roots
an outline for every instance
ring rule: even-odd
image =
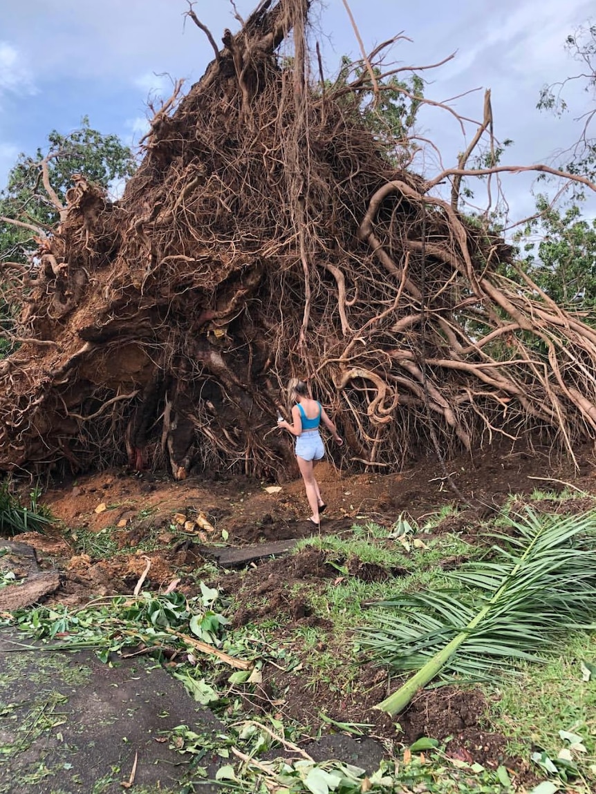
[[[510,453],[508,449],[490,449],[463,456],[449,462],[449,472],[455,484],[468,497],[488,507],[500,507],[510,493],[530,493],[537,487],[539,474],[544,488],[556,487],[554,480],[563,480],[576,487],[594,490],[594,460],[591,449],[579,453],[581,475],[570,461],[551,461],[550,450],[540,450],[532,457],[526,453]],[[381,526],[393,526],[401,513],[424,521],[443,505],[457,503],[441,467],[433,458],[422,458],[408,464],[401,472],[377,474],[373,472],[346,476],[330,463],[319,464],[317,479],[327,503],[323,516],[322,534],[349,530],[356,523],[374,521]],[[54,514],[72,529],[89,532],[120,531],[122,548],[137,547],[152,532],[168,533],[174,515],[184,515],[192,521],[199,512],[207,516],[213,526],[208,540],[221,541],[222,534],[232,545],[244,545],[261,540],[304,538],[312,534],[312,526],[305,519],[310,510],[304,495],[302,480],[292,480],[281,491],[269,494],[269,483],[248,477],[218,476],[216,480],[188,477],[174,482],[166,476],[149,472],[142,475],[114,469],[91,476],[81,476],[72,482],[56,484],[45,494],[44,502]],[[571,510],[580,509],[568,500]],[[100,506],[105,509],[96,512]],[[462,506],[463,507],[463,506]],[[480,525],[476,511],[461,511],[447,517],[433,532],[463,531],[475,534]],[[176,529],[179,531],[180,527]],[[66,549],[48,549],[59,556]]]

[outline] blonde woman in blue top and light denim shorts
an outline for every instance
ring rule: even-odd
[[[288,384],[288,394],[290,399],[296,400],[296,405],[292,408],[293,424],[286,422],[285,419],[278,419],[277,426],[289,430],[296,436],[296,461],[304,480],[308,504],[312,510],[312,516],[308,520],[318,527],[320,514],[327,507],[321,499],[319,484],[313,472],[315,463],[325,454],[323,439],[319,434],[321,420],[331,430],[336,444],[343,445],[343,440],[339,437],[334,423],[321,407],[321,403],[308,396],[308,387],[304,380],[292,378]]]

